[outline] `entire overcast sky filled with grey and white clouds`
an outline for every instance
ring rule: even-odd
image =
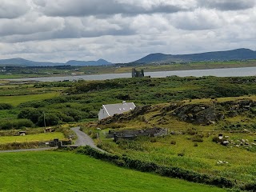
[[[256,0],[0,0],[0,59],[256,50]]]

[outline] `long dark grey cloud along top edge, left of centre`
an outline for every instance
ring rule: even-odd
[[[187,10],[178,5],[170,5],[164,2],[155,3],[151,6],[143,6],[138,3],[118,2],[116,0],[56,0],[43,1],[34,0],[44,14],[60,17],[80,16],[102,16],[113,14],[152,14],[152,13],[175,13],[180,10]]]

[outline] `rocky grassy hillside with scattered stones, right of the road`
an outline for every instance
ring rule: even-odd
[[[95,141],[112,153],[235,179],[238,186],[244,182],[254,182],[256,102],[244,97],[218,100],[195,99],[158,104],[108,118],[98,125],[102,128],[101,138]],[[251,102],[250,107],[246,101]],[[233,114],[234,111],[238,114]],[[117,143],[112,138],[106,138],[109,130],[144,130],[152,127],[166,128],[169,134]],[[93,126],[85,126],[86,130],[93,135]],[[230,144],[223,146],[215,142],[218,134],[226,136]]]

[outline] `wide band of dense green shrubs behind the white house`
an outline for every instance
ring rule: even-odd
[[[21,111],[18,118],[28,118],[36,125],[42,125],[42,118],[40,122],[38,122],[38,118],[42,117],[43,111],[46,114],[54,114],[54,123],[50,124],[78,122],[91,118],[96,119],[102,104],[120,103],[122,100],[126,100],[127,102],[134,102],[136,106],[142,106],[191,98],[218,98],[256,94],[254,82],[256,82],[255,77],[180,78],[177,76],[167,78],[120,78],[92,82],[40,82],[35,87],[45,87],[45,89],[70,88],[65,90],[63,95],[55,98],[22,102],[15,110]],[[32,88],[41,89],[35,87]],[[26,101],[28,101],[27,98]],[[254,115],[253,110],[252,108],[251,112],[248,112],[251,116]]]

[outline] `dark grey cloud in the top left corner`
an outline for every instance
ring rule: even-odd
[[[26,3],[18,3],[15,0],[2,0],[0,3],[0,18],[18,18],[26,14],[30,6]]]

